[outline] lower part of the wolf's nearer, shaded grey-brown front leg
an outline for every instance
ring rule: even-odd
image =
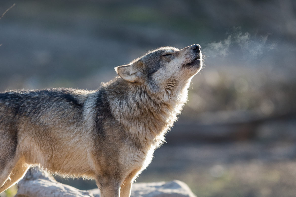
[[[114,177],[96,178],[96,185],[100,189],[101,197],[120,197],[120,184],[122,181]]]

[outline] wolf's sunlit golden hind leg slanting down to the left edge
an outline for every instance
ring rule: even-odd
[[[24,158],[18,160],[17,164],[13,168],[9,177],[6,179],[6,182],[0,188],[0,193],[10,188],[12,185],[21,180],[25,173],[27,172],[29,165],[27,165],[24,161]]]

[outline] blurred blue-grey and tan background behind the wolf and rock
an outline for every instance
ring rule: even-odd
[[[0,20],[0,91],[95,90],[149,50],[200,44],[205,66],[137,182],[178,179],[200,197],[295,196],[296,1],[1,0],[0,14],[14,3]]]

